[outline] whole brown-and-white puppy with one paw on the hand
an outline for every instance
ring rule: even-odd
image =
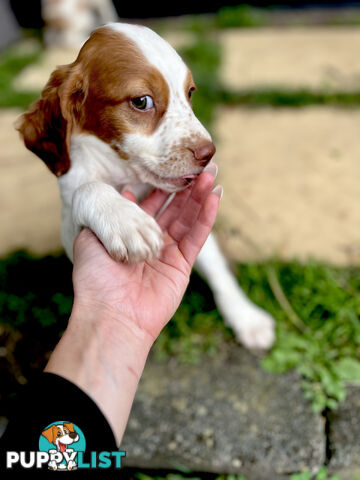
[[[119,192],[129,184],[138,198],[154,187],[178,192],[210,162],[215,147],[192,111],[194,90],[190,70],[165,40],[125,23],[95,30],[74,63],[53,72],[18,128],[27,148],[58,177],[70,259],[82,227],[116,260],[159,255],[156,221]],[[213,235],[197,267],[237,339],[269,348],[273,319],[246,298]]]

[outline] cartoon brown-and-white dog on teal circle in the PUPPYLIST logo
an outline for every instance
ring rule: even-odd
[[[85,451],[85,437],[71,422],[54,422],[41,432],[39,450],[48,452],[50,470],[75,470],[78,452]]]

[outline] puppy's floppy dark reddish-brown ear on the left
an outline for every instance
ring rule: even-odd
[[[40,100],[17,121],[26,147],[57,176],[70,168],[70,138],[85,100],[80,72],[72,65],[58,67]]]

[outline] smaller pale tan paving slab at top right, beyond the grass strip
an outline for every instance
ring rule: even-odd
[[[230,29],[219,41],[228,88],[360,88],[359,27]]]

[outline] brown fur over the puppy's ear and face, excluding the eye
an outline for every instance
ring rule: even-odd
[[[136,110],[135,97],[149,95],[154,108]],[[128,158],[114,141],[139,132],[151,135],[161,122],[169,87],[137,45],[109,27],[97,29],[78,58],[58,67],[35,102],[18,123],[25,145],[57,176],[70,168],[70,138],[88,132]]]

